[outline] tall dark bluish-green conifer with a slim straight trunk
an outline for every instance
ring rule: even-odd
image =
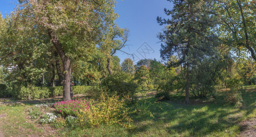
[[[180,57],[177,64],[186,69],[185,103],[189,104],[189,88],[192,66],[203,58],[211,57],[217,37],[211,33],[216,26],[216,16],[209,10],[209,0],[169,0],[173,1],[173,9],[165,9],[172,19],[157,17],[160,25],[167,24],[159,34],[161,58],[167,60],[176,54]],[[173,64],[173,65],[177,65]]]

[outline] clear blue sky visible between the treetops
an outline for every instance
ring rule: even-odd
[[[156,35],[161,32],[163,26],[159,26],[156,17],[161,16],[167,18],[163,9],[171,9],[172,4],[167,0],[117,0],[115,7],[119,18],[117,25],[121,28],[130,30],[128,38],[128,47],[122,50],[134,54],[134,58],[130,55],[117,52],[117,56],[121,59],[121,63],[125,58],[134,59],[137,62],[144,58],[160,58],[160,48]],[[17,0],[1,0],[0,11],[3,16],[9,14],[16,6]]]

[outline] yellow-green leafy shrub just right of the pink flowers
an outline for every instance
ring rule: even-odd
[[[83,102],[85,103],[85,102]],[[79,110],[78,118],[83,126],[99,126],[100,124],[119,124],[125,128],[130,128],[132,119],[124,100],[118,100],[118,96],[109,97],[102,94],[96,105]]]

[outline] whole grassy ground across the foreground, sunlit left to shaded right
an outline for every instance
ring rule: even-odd
[[[152,92],[152,91],[150,91]],[[151,95],[151,94],[150,94]],[[232,137],[246,130],[246,121],[256,118],[256,87],[246,87],[242,107],[227,105],[223,100],[225,90],[218,93],[217,99],[191,98],[191,104],[184,104],[184,96],[173,95],[171,101],[156,102],[154,97],[140,99],[141,108],[149,113],[132,115],[134,129],[120,126],[101,125],[97,128],[53,129],[50,126],[35,124],[25,110],[31,103],[5,105],[0,103],[0,130],[10,136],[131,136],[131,137]],[[14,101],[14,100],[12,100]],[[15,101],[14,101],[15,102]],[[143,110],[138,110],[143,111]],[[256,126],[251,126],[256,128]]]

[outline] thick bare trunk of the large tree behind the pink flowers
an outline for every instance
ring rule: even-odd
[[[55,32],[48,29],[48,35],[51,39],[52,44],[56,48],[57,53],[61,57],[61,61],[63,64],[63,100],[68,101],[71,100],[70,97],[70,58],[64,52],[61,42],[57,38]]]

